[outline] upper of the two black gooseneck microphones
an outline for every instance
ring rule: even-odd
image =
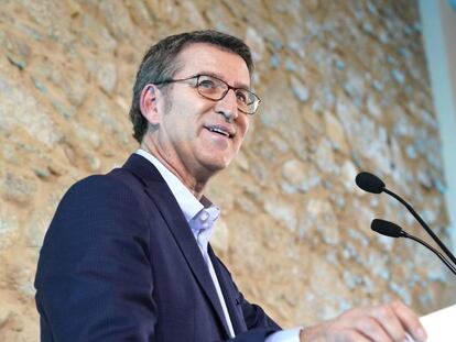
[[[390,191],[387,189],[383,180],[381,180],[376,175],[372,175],[367,172],[359,173],[356,176],[356,185],[361,188],[362,190],[371,194],[380,194],[380,192],[387,192],[391,197],[395,198],[398,201],[400,201],[408,210],[409,212],[415,218],[416,221],[421,224],[421,227],[424,228],[424,230],[427,232],[427,234],[431,235],[431,238],[435,241],[435,243],[442,249],[442,251],[446,254],[446,256],[449,257],[449,260],[453,262],[453,264],[456,265],[456,257],[453,255],[453,253],[448,250],[448,247],[438,239],[437,235],[434,234],[434,232],[431,230],[431,228],[424,222],[424,220],[417,214],[417,212],[410,206],[405,200],[403,200],[399,195],[394,194],[393,191]]]

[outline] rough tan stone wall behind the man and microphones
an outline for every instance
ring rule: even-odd
[[[137,148],[128,110],[152,42],[214,27],[243,37],[263,99],[242,151],[214,179],[213,244],[247,298],[285,327],[400,298],[452,302],[439,261],[374,235],[425,238],[372,170],[446,236],[438,126],[415,1],[0,0],[0,340],[37,341],[33,277],[58,200]]]

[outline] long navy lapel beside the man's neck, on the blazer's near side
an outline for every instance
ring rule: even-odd
[[[145,192],[155,202],[166,221],[167,228],[183,253],[188,267],[217,312],[226,337],[229,338],[224,311],[209,271],[173,192],[171,192],[155,166],[140,155],[132,154],[123,168],[132,172],[144,184]]]

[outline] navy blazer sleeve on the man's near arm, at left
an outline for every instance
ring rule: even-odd
[[[43,342],[153,341],[148,221],[133,191],[110,177],[68,190],[35,278]]]

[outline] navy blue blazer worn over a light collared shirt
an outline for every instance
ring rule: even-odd
[[[208,253],[234,341],[264,341],[279,326],[243,298],[210,246]],[[185,217],[140,155],[64,196],[44,239],[35,287],[43,342],[229,339]]]

